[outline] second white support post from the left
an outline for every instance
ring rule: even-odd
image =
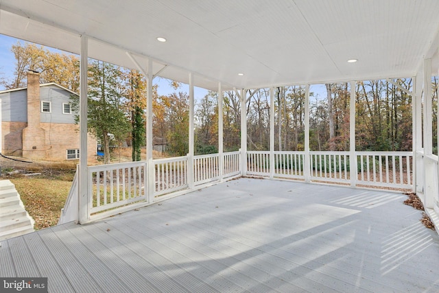
[[[147,168],[147,202],[154,202],[156,189],[156,169],[152,158],[152,59],[148,59],[146,94],[146,168]]]

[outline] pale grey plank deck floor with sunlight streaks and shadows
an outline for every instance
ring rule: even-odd
[[[241,178],[1,242],[49,292],[438,292],[439,237],[407,196]]]

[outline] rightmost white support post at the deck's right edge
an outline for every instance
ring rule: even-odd
[[[432,102],[431,102],[431,59],[424,60],[424,156],[431,157],[433,154],[433,124],[432,124]],[[437,183],[436,164],[431,159],[424,159],[424,206],[434,207],[434,198],[438,193],[435,189]]]

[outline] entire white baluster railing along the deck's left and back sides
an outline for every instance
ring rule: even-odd
[[[421,160],[425,159],[422,155],[418,156],[418,163],[422,163]],[[150,168],[153,176],[147,174],[149,168],[146,161],[88,167],[88,219],[93,220],[98,213],[102,216],[102,211],[117,213],[108,210],[134,202],[150,204],[158,200],[158,196],[173,196],[191,186],[198,187],[242,174],[241,152],[224,153],[222,161],[219,160],[219,154],[194,156],[192,162],[189,158],[180,156],[153,160],[154,166]],[[270,152],[251,151],[247,152],[246,164],[250,176],[297,180],[309,178],[315,182],[398,189],[410,189],[413,185],[412,152],[355,152],[355,160],[353,165],[357,167],[357,178],[351,178],[350,152],[309,152],[309,160],[305,160],[305,152],[272,152],[271,157]],[[270,162],[274,166],[270,167]],[[309,166],[305,166],[305,162],[309,162]],[[222,172],[219,172],[221,164]],[[436,159],[436,169],[437,165]],[[305,174],[306,169],[309,169],[309,174]],[[152,181],[154,188],[148,188],[148,178],[155,180]],[[189,182],[191,178],[193,185]],[[78,220],[77,183],[74,180],[60,223]],[[148,196],[148,190],[154,194]],[[148,198],[151,202],[148,202]],[[438,194],[435,204],[439,211]]]

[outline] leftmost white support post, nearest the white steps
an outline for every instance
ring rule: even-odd
[[[88,38],[81,36],[80,56],[80,167],[79,167],[79,219],[80,224],[88,222],[90,209],[88,206],[88,170],[87,170],[87,77],[88,77]]]

